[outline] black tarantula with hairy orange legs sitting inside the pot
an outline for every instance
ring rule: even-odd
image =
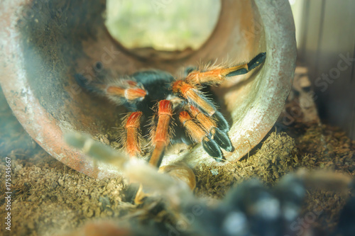
[[[234,67],[188,68],[185,78],[175,79],[168,72],[148,70],[127,78],[97,77],[89,81],[75,74],[80,86],[106,96],[131,111],[123,121],[122,144],[130,156],[141,154],[141,138],[149,137],[154,147],[150,163],[159,167],[170,142],[202,142],[204,150],[217,162],[223,159],[221,148],[232,152],[229,124],[207,96],[204,86],[218,85],[228,77],[246,74],[266,59],[266,52],[250,62]],[[98,62],[97,67],[102,67]],[[149,120],[149,121],[147,121]],[[146,128],[145,123],[151,123]],[[173,130],[173,126],[185,129]]]

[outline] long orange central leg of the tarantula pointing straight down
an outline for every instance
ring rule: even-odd
[[[173,107],[168,100],[161,100],[158,103],[158,124],[151,137],[154,150],[149,163],[155,167],[160,166],[165,147],[170,142],[170,123],[173,116]]]

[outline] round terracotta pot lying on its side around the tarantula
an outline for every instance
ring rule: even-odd
[[[295,35],[288,1],[222,1],[219,21],[210,38],[198,50],[154,52],[144,55],[127,50],[116,42],[104,25],[105,1],[14,1],[17,11],[18,43],[23,52],[21,80],[36,105],[20,99],[26,106],[40,106],[52,125],[63,133],[80,131],[94,137],[117,132],[123,106],[93,96],[75,82],[74,74],[95,78],[97,62],[114,76],[122,77],[141,69],[162,69],[175,77],[185,66],[220,62],[248,62],[259,52],[267,52],[266,62],[245,76],[232,77],[214,89],[221,111],[231,125],[229,136],[234,152],[225,152],[226,162],[233,162],[256,146],[272,128],[290,91],[295,68]],[[10,26],[9,26],[10,27]],[[11,42],[9,42],[9,45]],[[16,82],[16,78],[13,79]],[[27,122],[11,102],[10,85],[4,85],[6,99],[28,133],[53,157],[70,167],[92,175],[92,163],[80,167],[82,156],[75,157],[70,147],[55,148],[54,136],[43,133],[40,119]],[[21,84],[21,83],[19,83]],[[25,88],[22,88],[25,89]],[[18,90],[21,91],[21,90]],[[26,113],[26,111],[24,111]],[[41,113],[34,116],[43,116]],[[20,118],[19,118],[20,117]],[[25,116],[26,117],[26,116]],[[39,125],[39,126],[38,126]],[[57,132],[56,131],[56,132]],[[119,136],[119,133],[117,133]],[[114,138],[114,137],[111,137]],[[46,140],[47,139],[47,140]],[[183,145],[182,145],[183,146]],[[191,165],[216,164],[201,145],[169,147],[163,165],[184,159]],[[176,148],[180,149],[178,152]],[[72,162],[68,159],[77,158]],[[222,164],[226,163],[222,162]],[[100,167],[101,168],[101,167]],[[105,169],[106,167],[102,167]],[[101,172],[101,171],[99,171]],[[106,175],[106,174],[103,174]]]

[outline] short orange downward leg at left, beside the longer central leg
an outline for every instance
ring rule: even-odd
[[[124,119],[124,148],[130,157],[141,155],[141,118],[143,113],[135,111],[129,113]]]

